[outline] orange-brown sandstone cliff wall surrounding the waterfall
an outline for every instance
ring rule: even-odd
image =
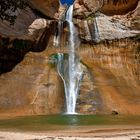
[[[86,44],[78,53],[88,67],[78,112],[140,114],[139,6],[137,0],[75,2],[74,23]],[[31,0],[9,15],[14,15],[12,22],[0,19],[0,115],[64,111],[63,83],[49,56],[67,51],[53,47],[58,18],[65,16],[66,8],[57,0]]]

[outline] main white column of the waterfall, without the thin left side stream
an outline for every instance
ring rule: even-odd
[[[76,56],[75,48],[78,47],[78,33],[72,22],[73,19],[73,5],[71,5],[66,14],[66,20],[69,24],[69,83],[66,91],[66,107],[68,114],[74,114],[76,108],[76,100],[79,92],[79,84],[82,76],[80,69],[79,58]]]

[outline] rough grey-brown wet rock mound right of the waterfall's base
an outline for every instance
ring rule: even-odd
[[[78,113],[98,114],[103,111],[103,101],[96,88],[94,75],[88,69],[85,71],[80,84],[76,106]]]

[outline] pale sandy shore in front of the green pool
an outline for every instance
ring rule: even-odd
[[[0,140],[140,140],[140,127],[49,132],[0,131]]]

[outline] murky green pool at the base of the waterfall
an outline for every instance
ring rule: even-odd
[[[23,131],[48,131],[79,128],[82,126],[140,126],[140,116],[120,115],[42,115],[0,120],[0,129]]]

